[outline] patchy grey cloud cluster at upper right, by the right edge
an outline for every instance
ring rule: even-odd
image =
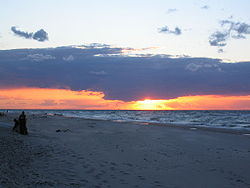
[[[209,37],[211,46],[224,47],[228,39],[246,39],[246,35],[250,34],[250,25],[244,22],[222,20],[220,26],[221,30],[212,33]],[[223,49],[220,48],[218,52],[223,52]]]

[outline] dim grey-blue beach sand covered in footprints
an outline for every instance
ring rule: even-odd
[[[17,116],[17,115],[14,115]],[[28,115],[0,117],[0,187],[250,187],[250,136]]]

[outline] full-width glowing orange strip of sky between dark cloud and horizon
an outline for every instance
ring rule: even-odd
[[[250,95],[183,96],[169,100],[105,100],[103,92],[68,89],[0,89],[0,109],[250,110]]]

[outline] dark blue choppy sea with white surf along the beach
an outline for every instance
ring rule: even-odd
[[[9,110],[9,113],[11,112],[20,110]],[[49,116],[250,130],[250,111],[26,110],[26,112]]]

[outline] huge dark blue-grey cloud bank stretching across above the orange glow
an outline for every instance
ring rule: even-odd
[[[81,47],[0,51],[0,88],[103,91],[106,99],[124,101],[250,94],[250,62],[160,55],[128,57],[121,55],[122,48],[108,45]]]

